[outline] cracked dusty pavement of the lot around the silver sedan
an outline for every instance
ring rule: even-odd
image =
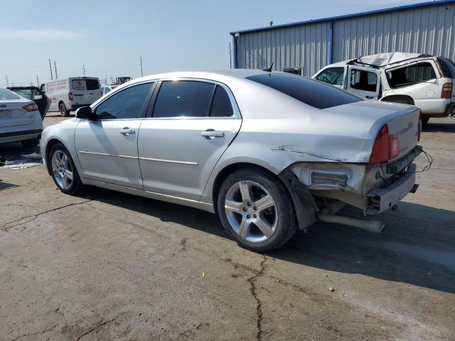
[[[384,234],[318,223],[267,254],[207,212],[0,168],[0,340],[454,340],[455,119],[421,144]]]

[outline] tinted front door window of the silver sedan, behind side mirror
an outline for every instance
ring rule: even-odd
[[[153,83],[129,87],[113,94],[95,110],[100,119],[138,119]]]

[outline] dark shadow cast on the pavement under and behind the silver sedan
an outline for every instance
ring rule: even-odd
[[[91,188],[84,197],[228,238],[215,215],[191,207],[99,188]],[[363,218],[356,209],[340,214]],[[455,293],[455,212],[402,202],[397,212],[379,218],[387,222],[381,235],[319,222],[267,255],[328,271]]]

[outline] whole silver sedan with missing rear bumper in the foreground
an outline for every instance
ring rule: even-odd
[[[63,193],[95,185],[216,212],[238,244],[267,251],[317,220],[382,232],[335,213],[414,192],[419,114],[289,73],[173,72],[49,126],[41,153]]]

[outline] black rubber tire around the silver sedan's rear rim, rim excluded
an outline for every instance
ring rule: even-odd
[[[267,190],[269,195],[272,196],[275,202],[276,208],[273,209],[273,214],[277,217],[276,229],[274,229],[273,234],[264,241],[251,242],[243,237],[240,237],[240,234],[235,231],[234,227],[231,226],[228,220],[228,215],[225,212],[225,199],[230,191],[230,188],[233,188],[233,186],[240,181],[251,181],[261,185],[265,190]],[[251,251],[264,252],[277,249],[291,239],[297,231],[298,224],[291,196],[282,181],[279,180],[277,176],[264,171],[261,168],[242,168],[228,175],[228,178],[223,181],[223,184],[218,192],[217,207],[218,215],[226,232],[228,232],[230,237],[232,237],[232,239],[234,239],[240,247]],[[248,208],[248,210],[250,210],[250,208]],[[246,214],[247,212],[245,215]],[[237,213],[236,216],[239,220],[244,217],[242,215],[237,215]],[[252,228],[256,228],[254,223]]]

